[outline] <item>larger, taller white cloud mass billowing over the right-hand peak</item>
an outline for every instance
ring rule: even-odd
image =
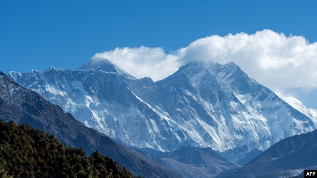
[[[249,76],[273,89],[317,88],[317,42],[271,30],[252,35],[208,36],[178,52],[184,63],[193,60],[236,63]]]

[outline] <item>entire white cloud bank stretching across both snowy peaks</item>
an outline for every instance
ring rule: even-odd
[[[207,36],[167,54],[162,48],[116,48],[97,53],[140,78],[160,80],[190,61],[233,61],[249,76],[275,91],[317,88],[317,42],[271,30],[255,34]]]

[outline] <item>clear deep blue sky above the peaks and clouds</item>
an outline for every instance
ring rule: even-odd
[[[315,0],[0,0],[0,71],[77,69],[116,47],[167,53],[263,29],[317,41]]]

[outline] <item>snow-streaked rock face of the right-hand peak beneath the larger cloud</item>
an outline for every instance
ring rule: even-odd
[[[132,91],[178,123],[178,142],[218,151],[267,149],[315,129],[311,119],[249,78],[234,63],[190,63],[156,83],[129,80]]]

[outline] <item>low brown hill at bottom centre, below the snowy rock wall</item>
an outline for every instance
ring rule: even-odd
[[[223,159],[211,148],[183,146],[173,152],[144,148],[139,153],[175,170],[184,178],[213,178],[219,173],[238,167]]]

